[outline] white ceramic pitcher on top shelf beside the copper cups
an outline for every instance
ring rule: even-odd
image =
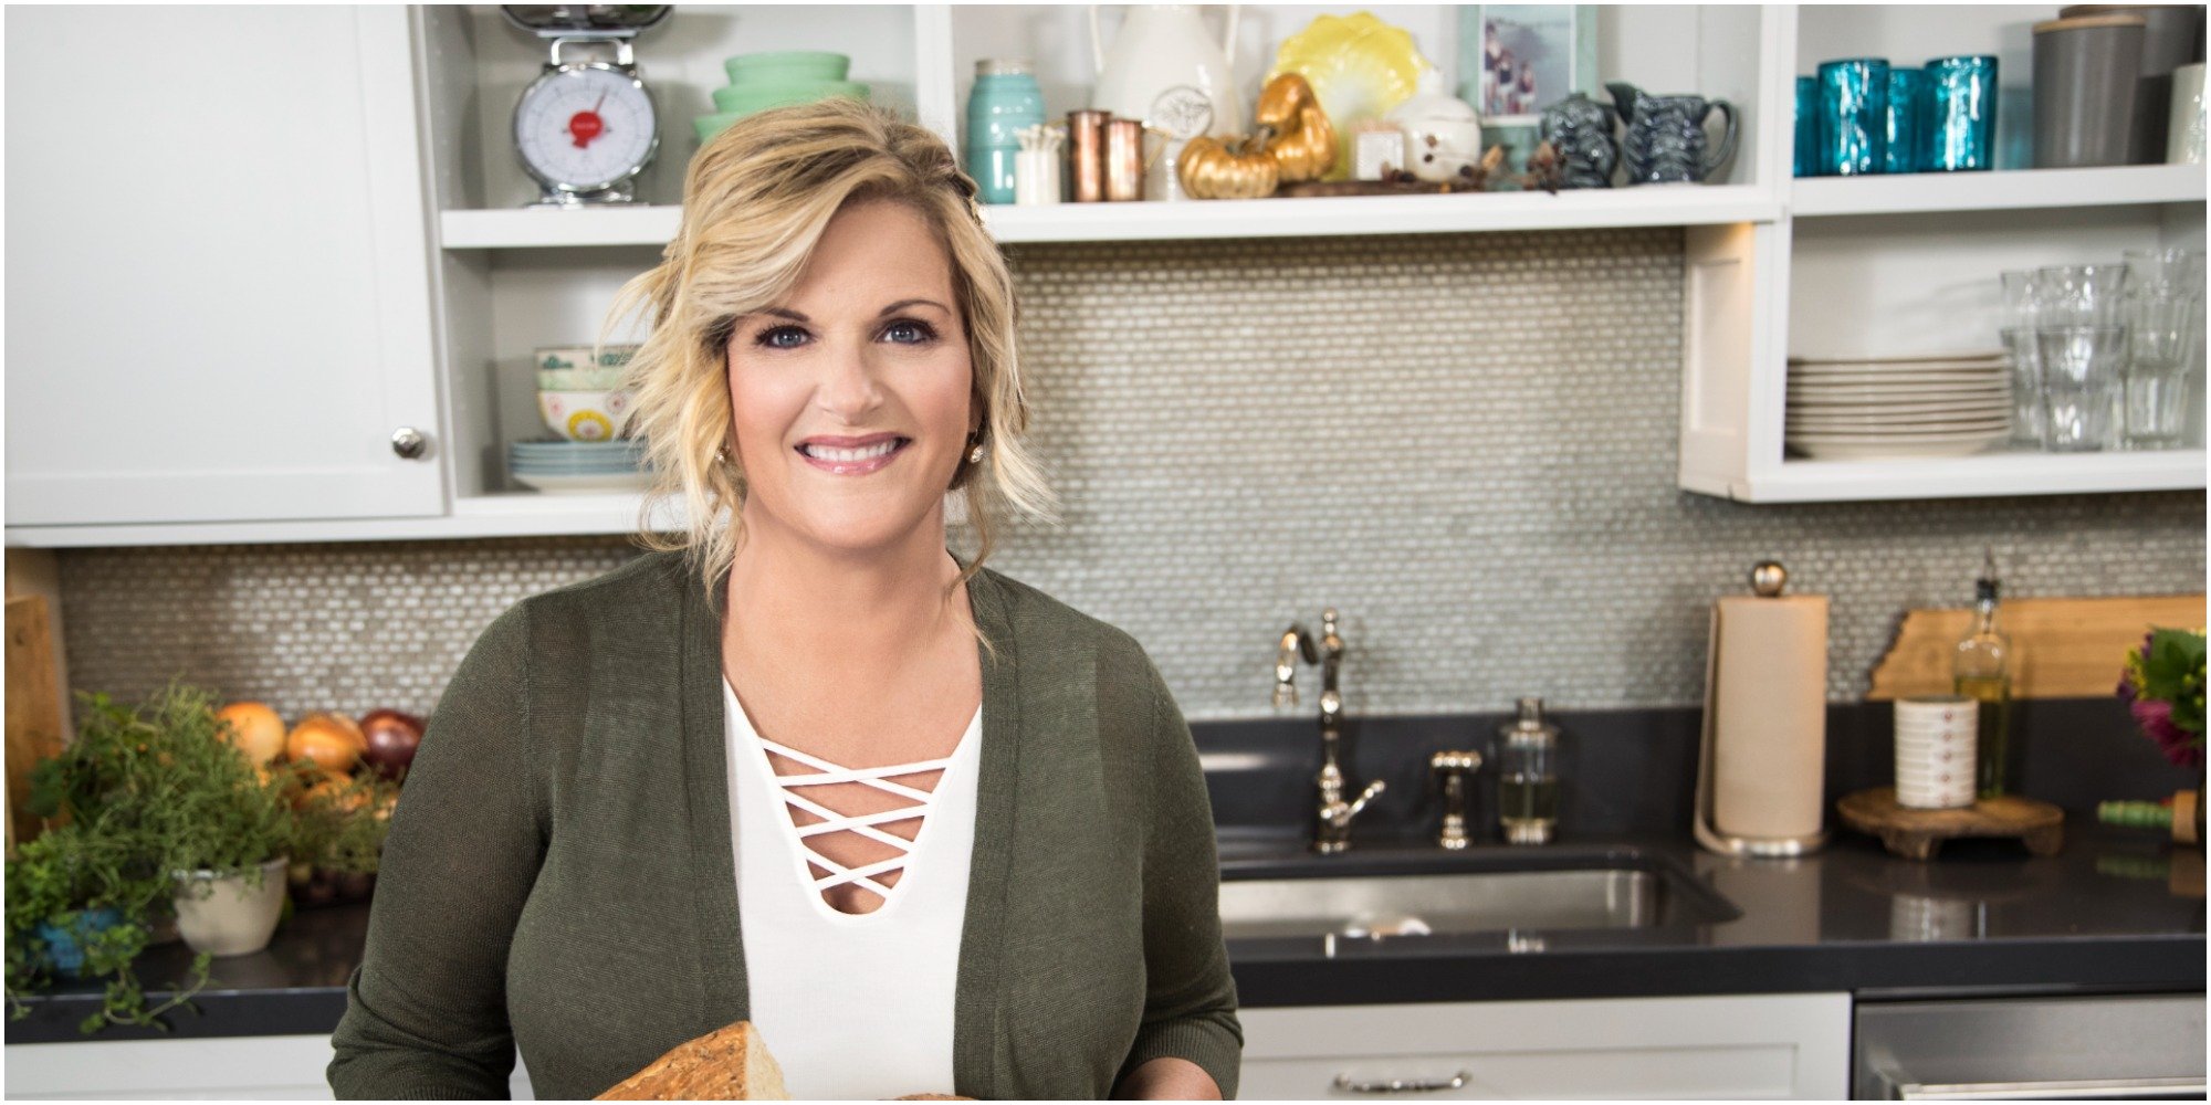
[[[1121,119],[1143,119],[1178,137],[1243,135],[1236,95],[1236,4],[1229,4],[1227,44],[1205,33],[1196,4],[1130,4],[1121,31],[1106,49],[1099,7],[1090,4],[1090,57],[1097,93],[1090,106]],[[1198,128],[1196,91],[1212,110]]]

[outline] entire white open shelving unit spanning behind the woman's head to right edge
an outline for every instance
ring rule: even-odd
[[[1413,31],[1446,86],[1455,84],[1455,7],[1373,11]],[[1234,62],[1247,102],[1258,95],[1274,44],[1316,13],[1296,4],[1243,9]],[[1742,110],[1742,144],[1722,177],[1705,186],[1002,206],[986,208],[984,219],[1004,243],[1680,225],[1683,488],[1738,502],[2200,488],[2200,440],[2171,453],[1913,462],[1806,462],[1782,453],[1791,354],[1826,349],[1822,343],[1835,334],[1853,334],[1864,354],[1992,345],[1994,276],[2003,267],[2202,243],[2198,166],[1789,179],[1795,73],[1840,55],[1895,55],[1908,64],[1932,51],[1992,51],[2010,82],[2019,82],[2032,69],[2023,27],[2045,15],[2041,7],[1601,4],[1603,80],[1727,97]],[[708,110],[723,57],[838,49],[853,55],[853,80],[869,82],[878,102],[911,110],[955,150],[979,57],[1035,60],[1048,117],[1088,106],[1092,80],[1081,7],[685,4],[637,49],[663,113],[661,159],[641,181],[648,203],[524,210],[533,188],[511,164],[504,126],[542,51],[493,9],[420,9],[418,22],[425,150],[438,206],[447,442],[453,442],[444,522],[486,535],[617,533],[635,522],[635,495],[537,495],[509,484],[502,451],[504,442],[542,431],[528,351],[590,340],[612,292],[652,265],[674,234],[681,166],[696,148],[690,115]],[[831,27],[836,33],[825,33]],[[1106,33],[1112,31],[1108,15]],[[2010,126],[2021,124],[2023,113],[2014,110]],[[2016,135],[2005,137],[2016,146]],[[1904,325],[1873,325],[1899,303],[1913,305]]]

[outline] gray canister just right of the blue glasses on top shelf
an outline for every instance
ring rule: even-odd
[[[2131,161],[2145,27],[2140,15],[2034,24],[2034,168]]]

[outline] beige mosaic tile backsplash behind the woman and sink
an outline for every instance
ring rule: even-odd
[[[1570,712],[1698,703],[1711,601],[1767,557],[1831,597],[1835,701],[1866,692],[1906,608],[1970,601],[1983,546],[2014,597],[2204,586],[2202,493],[1678,491],[1678,230],[1010,254],[1066,511],[991,564],[1132,632],[1192,718],[1269,714],[1274,641],[1324,606],[1353,714],[1523,694]],[[500,610],[632,555],[626,537],[71,550],[71,681],[427,712]]]

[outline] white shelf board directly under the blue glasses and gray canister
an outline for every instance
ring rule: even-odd
[[[2204,166],[2023,168],[1899,172],[1791,181],[1789,214],[1908,214],[1952,210],[2118,208],[2202,203]]]

